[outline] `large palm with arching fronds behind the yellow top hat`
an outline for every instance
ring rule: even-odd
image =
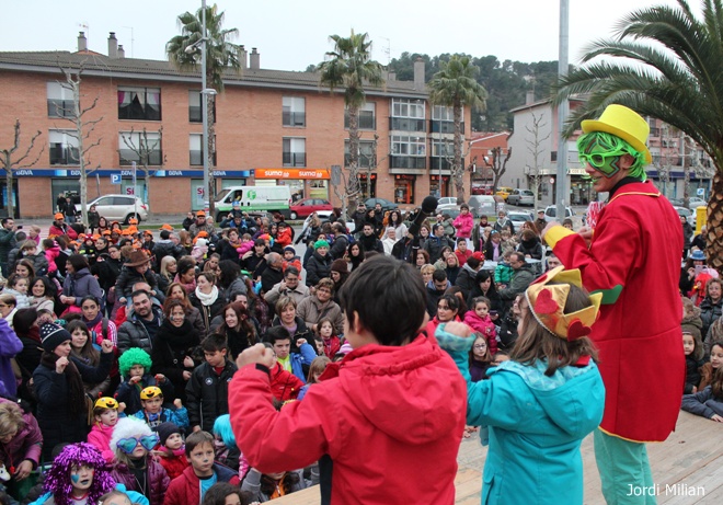
[[[705,0],[702,19],[688,2],[656,5],[626,15],[613,39],[587,48],[583,67],[558,84],[558,102],[584,95],[571,115],[571,135],[582,119],[611,103],[626,105],[684,131],[715,165],[708,206],[709,263],[723,267],[723,8]],[[598,56],[604,60],[592,61]]]

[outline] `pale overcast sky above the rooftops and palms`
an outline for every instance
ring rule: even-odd
[[[213,2],[209,1],[209,4]],[[559,0],[219,0],[237,44],[257,47],[261,66],[303,70],[332,49],[329,35],[368,32],[374,58],[386,65],[403,51],[495,55],[500,60],[558,59]],[[570,0],[570,61],[593,39],[608,37],[631,10],[674,0]],[[700,0],[690,0],[699,10]],[[107,54],[115,32],[127,57],[165,59],[179,33],[176,18],[200,0],[25,0],[3,2],[4,50],[76,50],[79,31],[89,48]],[[84,26],[81,26],[84,25]],[[131,41],[133,36],[133,41]]]

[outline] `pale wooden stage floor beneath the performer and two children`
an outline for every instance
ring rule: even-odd
[[[680,412],[676,432],[663,444],[649,444],[653,479],[659,485],[658,504],[692,505],[723,503],[723,424]],[[459,448],[459,471],[455,485],[458,505],[479,505],[482,467],[486,448],[477,434],[462,440]],[[585,504],[605,504],[595,464],[593,437],[583,441],[585,467]],[[667,487],[666,487],[667,486]],[[699,487],[700,486],[700,487]],[[666,491],[667,490],[667,491]],[[704,492],[701,495],[700,490]],[[697,492],[686,495],[687,492]],[[318,505],[318,486],[274,501],[277,505]]]

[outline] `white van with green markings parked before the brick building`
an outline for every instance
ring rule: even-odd
[[[288,214],[291,203],[289,186],[230,186],[216,197],[216,222],[220,222],[231,210],[233,202],[245,213]]]

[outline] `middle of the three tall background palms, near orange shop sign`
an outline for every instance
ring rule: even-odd
[[[367,33],[354,33],[348,38],[331,35],[334,50],[326,53],[326,60],[319,64],[319,81],[329,85],[333,93],[344,88],[344,103],[349,116],[349,174],[346,181],[345,196],[348,208],[356,209],[359,196],[359,108],[366,102],[365,85],[383,84],[382,67],[370,59],[371,41]],[[342,205],[345,205],[343,202]]]

